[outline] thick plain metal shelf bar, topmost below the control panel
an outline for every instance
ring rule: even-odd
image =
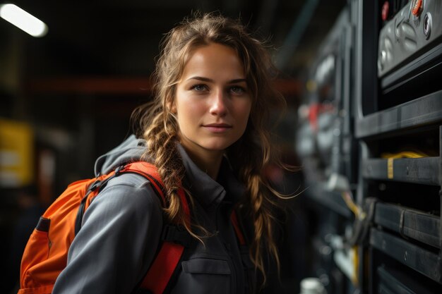
[[[442,90],[357,120],[357,138],[442,121]]]

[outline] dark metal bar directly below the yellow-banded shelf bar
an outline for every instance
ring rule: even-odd
[[[374,222],[427,245],[441,247],[440,218],[415,209],[377,202]]]

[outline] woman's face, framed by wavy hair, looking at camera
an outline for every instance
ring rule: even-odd
[[[244,67],[234,49],[215,43],[195,49],[172,107],[181,144],[193,154],[222,154],[244,134],[251,104]]]

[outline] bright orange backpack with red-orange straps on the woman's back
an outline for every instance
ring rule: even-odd
[[[150,180],[154,190],[162,197],[163,205],[165,204],[160,176],[155,166],[147,162],[134,162],[107,175],[71,183],[40,217],[30,235],[23,252],[18,294],[52,293],[56,278],[66,267],[69,246],[80,230],[85,210],[107,181],[121,173],[138,173]],[[179,190],[179,196],[189,221],[189,205],[182,189]],[[184,245],[175,241],[163,238],[161,248],[141,283],[141,288],[149,289],[152,293],[162,293],[165,290],[184,251]]]

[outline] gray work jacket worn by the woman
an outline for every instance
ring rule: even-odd
[[[107,165],[99,169],[136,160],[143,142],[134,137],[129,141],[98,159],[99,165]],[[179,152],[186,167],[184,186],[195,200],[193,220],[212,235],[204,244],[193,242],[186,248],[170,293],[253,293],[254,267],[229,220],[243,186],[227,161],[215,181],[198,169],[181,145]],[[53,293],[132,293],[155,258],[163,225],[162,204],[148,180],[133,173],[109,180],[85,212]]]

